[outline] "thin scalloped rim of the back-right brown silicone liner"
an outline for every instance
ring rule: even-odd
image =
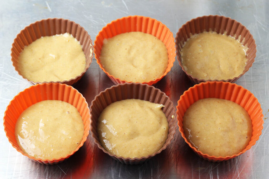
[[[187,24],[189,24],[191,21],[195,21],[195,20],[198,20],[198,19],[200,19],[200,18],[205,18],[205,17],[223,17],[223,18],[227,18],[227,19],[229,19],[229,20],[234,20],[235,22],[239,23],[239,25],[242,25],[242,27],[243,27],[246,31],[249,32],[250,38],[253,39],[253,44],[254,44],[254,52],[255,52],[255,53],[254,53],[254,56],[253,56],[253,62],[250,63],[249,68],[246,69],[246,71],[244,70],[239,76],[236,76],[236,77],[234,77],[234,78],[232,78],[232,79],[226,79],[226,80],[217,80],[217,79],[215,79],[215,80],[211,80],[211,79],[205,80],[205,79],[199,79],[199,78],[197,78],[197,77],[193,77],[191,74],[189,74],[189,73],[184,69],[184,67],[183,67],[183,65],[182,65],[182,62],[181,62],[181,60],[179,59],[179,50],[178,50],[178,49],[179,49],[179,45],[178,45],[178,44],[179,44],[179,42],[178,42],[179,32],[183,29],[183,27],[185,27],[185,26],[186,26]],[[192,79],[194,79],[195,81],[199,81],[199,82],[208,82],[208,81],[235,82],[237,79],[239,79],[241,76],[243,76],[247,71],[249,71],[250,67],[252,67],[252,65],[253,65],[253,63],[254,63],[254,61],[255,61],[256,52],[257,52],[257,49],[256,49],[257,45],[256,45],[256,43],[255,43],[255,39],[253,38],[253,35],[250,33],[250,31],[246,28],[246,26],[243,25],[242,23],[238,22],[237,20],[232,19],[231,17],[220,16],[220,15],[199,16],[199,17],[196,17],[196,18],[193,18],[193,19],[187,21],[185,24],[183,24],[183,25],[179,28],[178,32],[176,33],[176,38],[175,38],[175,40],[176,40],[176,58],[177,58],[177,60],[178,60],[178,62],[179,62],[179,66],[182,68],[183,72],[184,72],[187,76],[189,76],[189,78],[192,78]]]

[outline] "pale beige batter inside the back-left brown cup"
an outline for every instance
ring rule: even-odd
[[[18,58],[20,73],[33,82],[70,80],[85,67],[82,47],[68,33],[41,37],[25,46]]]

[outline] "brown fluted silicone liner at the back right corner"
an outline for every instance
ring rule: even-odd
[[[181,59],[181,51],[184,46],[184,43],[187,41],[188,38],[190,38],[190,36],[194,34],[199,34],[200,32],[203,31],[208,32],[210,30],[217,32],[218,34],[226,33],[226,35],[234,37],[235,39],[239,40],[240,43],[242,43],[244,46],[247,46],[248,48],[246,52],[247,62],[242,74],[233,79],[228,80],[204,80],[204,79],[198,79],[192,76],[191,74],[188,74],[188,72],[184,69]],[[226,81],[233,83],[242,75],[244,75],[252,66],[254,58],[256,57],[256,44],[249,30],[247,30],[247,28],[241,23],[231,19],[230,17],[210,15],[210,16],[197,17],[196,19],[187,21],[184,25],[182,25],[182,27],[176,33],[176,55],[180,67],[193,83],[197,84],[206,81]]]

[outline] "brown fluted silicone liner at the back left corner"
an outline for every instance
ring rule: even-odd
[[[72,79],[67,79],[65,81],[56,81],[56,82],[64,83],[67,85],[72,85],[76,83],[90,67],[93,58],[93,45],[88,32],[84,30],[84,28],[81,27],[79,24],[76,24],[75,22],[67,19],[49,18],[36,21],[25,27],[23,30],[20,31],[19,34],[17,34],[16,38],[14,39],[14,42],[12,43],[11,61],[12,65],[14,66],[18,74],[22,76],[22,74],[18,69],[18,57],[22,52],[22,50],[24,49],[24,46],[29,45],[30,43],[34,42],[36,39],[41,38],[42,36],[52,36],[56,34],[64,34],[66,32],[71,34],[74,38],[76,38],[80,42],[80,45],[82,46],[82,50],[86,57],[86,67],[85,70],[79,76],[76,76],[75,78]],[[37,83],[45,83],[45,82],[33,82],[28,79],[26,80],[32,85]]]

